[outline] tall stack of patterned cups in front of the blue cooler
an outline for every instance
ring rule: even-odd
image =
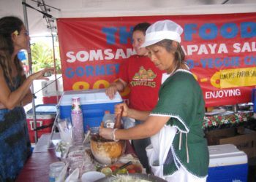
[[[75,131],[75,142],[82,142],[83,132],[83,112],[80,106],[80,98],[72,98],[71,119]]]

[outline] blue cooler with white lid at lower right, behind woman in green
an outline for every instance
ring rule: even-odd
[[[244,151],[233,144],[208,146],[210,164],[208,182],[246,182],[248,160]]]

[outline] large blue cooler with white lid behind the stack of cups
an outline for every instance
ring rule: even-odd
[[[102,122],[105,111],[114,113],[115,105],[122,103],[121,95],[117,92],[115,98],[110,100],[105,94],[105,89],[98,90],[72,90],[66,91],[59,100],[60,119],[71,120],[72,98],[79,97],[83,111],[83,129],[86,132],[88,127],[98,127]]]

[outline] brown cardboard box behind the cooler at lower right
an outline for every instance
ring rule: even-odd
[[[244,129],[238,134],[236,128],[220,129],[206,132],[208,146],[221,144],[234,144],[238,149],[244,151],[248,158],[256,157],[256,132]]]

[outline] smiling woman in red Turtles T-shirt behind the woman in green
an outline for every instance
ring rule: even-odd
[[[149,23],[139,23],[133,28],[132,47],[135,49],[137,55],[133,55],[121,64],[118,80],[111,83],[110,87],[106,90],[109,98],[113,99],[117,91],[121,92],[128,85],[130,89],[129,107],[148,113],[157,104],[157,93],[163,74],[149,60],[146,48],[140,47],[145,41],[145,33],[149,25]],[[140,124],[140,121],[137,120],[136,124]],[[149,172],[149,167],[145,149],[149,144],[149,138],[132,141],[132,146],[147,172]]]

